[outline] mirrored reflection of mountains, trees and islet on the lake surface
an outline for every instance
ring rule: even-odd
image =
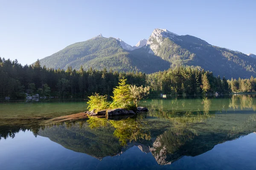
[[[41,120],[0,119],[0,140],[30,130],[76,152],[102,159],[138,146],[158,164],[183,156],[197,156],[216,144],[256,131],[256,99],[233,95],[212,99],[151,99],[149,112],[114,119],[90,117],[86,121],[42,125]],[[2,139],[1,139],[2,138]]]

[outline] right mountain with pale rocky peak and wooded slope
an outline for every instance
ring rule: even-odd
[[[147,42],[151,54],[177,65],[200,66],[216,76],[250,78],[256,76],[256,60],[239,51],[210,45],[190,35],[179,36],[155,29]]]

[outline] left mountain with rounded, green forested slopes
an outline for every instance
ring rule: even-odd
[[[122,41],[121,41],[122,42]],[[153,73],[170,67],[170,63],[153,54],[139,56],[137,51],[127,51],[115,38],[94,37],[84,42],[69,45],[49,57],[41,59],[41,65],[48,68],[67,69],[68,66],[79,69],[112,68],[117,71],[142,71]],[[157,65],[155,64],[157,63]]]

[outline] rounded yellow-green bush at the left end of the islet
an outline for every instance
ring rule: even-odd
[[[109,108],[109,102],[107,101],[107,95],[100,96],[95,93],[92,96],[89,96],[89,101],[87,102],[89,111],[94,111],[97,113],[98,111],[105,110]]]

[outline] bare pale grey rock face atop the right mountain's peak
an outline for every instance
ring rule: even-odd
[[[157,50],[162,45],[164,38],[170,38],[171,40],[177,39],[179,35],[168,31],[167,29],[156,28],[150,35],[147,41],[147,46],[151,48],[150,53],[157,55]]]

